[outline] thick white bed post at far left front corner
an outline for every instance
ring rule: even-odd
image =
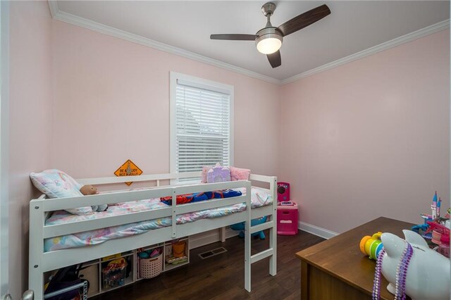
[[[44,297],[44,275],[42,274],[42,254],[44,253],[44,208],[42,201],[44,196],[30,201],[30,252],[28,262],[28,289],[35,292],[36,299]],[[35,251],[31,251],[36,249]]]

